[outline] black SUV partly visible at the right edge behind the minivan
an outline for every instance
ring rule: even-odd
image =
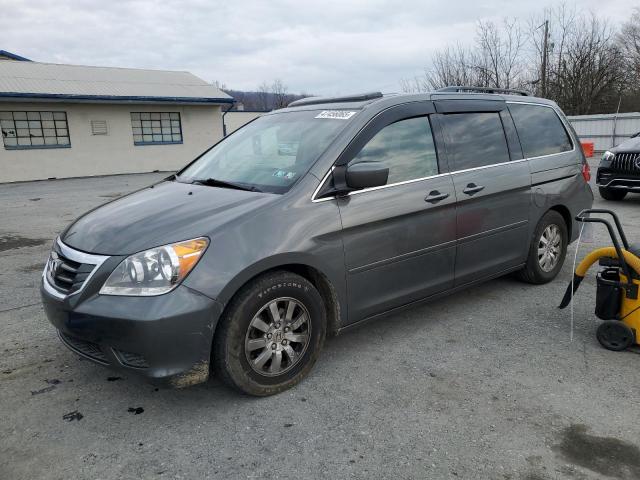
[[[602,155],[596,183],[605,200],[640,192],[640,132]]]

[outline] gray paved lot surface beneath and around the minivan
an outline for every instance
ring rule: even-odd
[[[640,357],[597,343],[593,271],[570,341],[571,261],[548,285],[501,278],[330,339],[275,397],[81,360],[40,306],[51,240],[161,176],[0,185],[0,479],[640,478]],[[640,196],[596,197],[640,238]]]

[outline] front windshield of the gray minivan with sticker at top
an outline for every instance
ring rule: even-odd
[[[226,182],[261,192],[284,193],[353,115],[325,114],[298,111],[260,117],[203,154],[181,171],[178,179],[211,186],[224,186],[221,182]]]

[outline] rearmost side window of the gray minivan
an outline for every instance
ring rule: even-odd
[[[525,157],[540,157],[571,150],[573,145],[558,114],[550,107],[509,104]]]

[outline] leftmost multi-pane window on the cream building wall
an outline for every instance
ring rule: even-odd
[[[0,128],[7,150],[71,146],[65,112],[0,111]]]

